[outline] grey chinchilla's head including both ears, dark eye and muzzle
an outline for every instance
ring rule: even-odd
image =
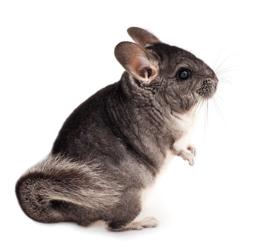
[[[191,52],[162,43],[144,29],[131,27],[127,31],[136,44],[121,42],[114,53],[134,76],[133,83],[159,92],[173,110],[181,113],[215,93],[218,78],[204,61]]]

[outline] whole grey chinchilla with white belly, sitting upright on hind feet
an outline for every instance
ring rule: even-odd
[[[156,227],[134,221],[168,153],[195,162],[189,142],[198,103],[218,78],[192,53],[131,27],[114,54],[121,79],[84,101],[64,122],[46,159],[16,183],[20,207],[39,222],[101,220],[111,231]]]

